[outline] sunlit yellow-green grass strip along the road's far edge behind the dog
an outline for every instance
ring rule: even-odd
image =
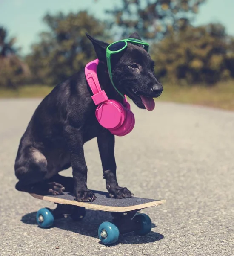
[[[234,110],[234,81],[222,82],[214,87],[188,87],[169,84],[163,87],[163,94],[157,101],[180,102]],[[21,87],[17,91],[0,89],[0,98],[42,98],[50,93],[52,88],[33,85]]]

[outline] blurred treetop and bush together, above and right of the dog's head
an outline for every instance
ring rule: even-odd
[[[193,27],[205,0],[121,0],[107,12],[127,37],[137,31],[151,42],[159,78],[184,84],[214,84],[234,77],[234,41],[220,24]]]

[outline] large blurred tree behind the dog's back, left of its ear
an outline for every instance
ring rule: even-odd
[[[105,38],[105,23],[87,12],[68,15],[60,12],[54,16],[47,14],[43,20],[49,32],[40,34],[40,42],[32,46],[32,53],[26,61],[33,73],[34,82],[54,85],[96,58],[85,33],[99,39]]]

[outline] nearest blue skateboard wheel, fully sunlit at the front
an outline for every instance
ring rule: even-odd
[[[119,236],[118,227],[111,222],[105,221],[98,228],[98,237],[103,244],[114,244],[118,241]]]

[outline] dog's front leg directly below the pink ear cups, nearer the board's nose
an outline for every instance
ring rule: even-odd
[[[127,188],[118,185],[116,177],[116,163],[114,158],[114,135],[108,130],[97,137],[98,148],[103,166],[103,178],[106,188],[112,198],[130,198],[133,194]]]

